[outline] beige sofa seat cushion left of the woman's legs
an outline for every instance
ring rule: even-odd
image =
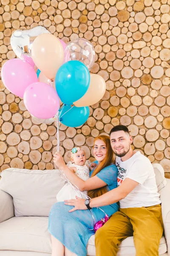
[[[0,223],[0,250],[51,253],[47,227],[48,217],[13,217],[3,221]]]

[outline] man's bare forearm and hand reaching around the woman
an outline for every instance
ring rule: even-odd
[[[138,186],[138,184],[138,182],[126,178],[118,188],[113,189],[97,198],[91,199],[90,207],[101,207],[109,204],[114,204],[125,198],[134,188],[136,188],[136,186]],[[75,210],[87,210],[84,202],[84,199],[77,198],[66,200],[65,204],[74,206],[74,208],[69,211],[74,212]]]

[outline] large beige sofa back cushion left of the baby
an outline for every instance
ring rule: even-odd
[[[0,189],[13,197],[15,216],[48,216],[64,186],[59,170],[9,168],[0,176]]]

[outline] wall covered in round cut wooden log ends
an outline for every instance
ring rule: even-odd
[[[60,126],[65,161],[74,146],[93,160],[94,138],[122,124],[133,136],[133,148],[161,163],[170,177],[170,0],[1,0],[1,67],[16,57],[12,32],[38,25],[66,43],[78,37],[91,41],[96,52],[91,72],[107,84],[82,127]],[[56,145],[56,124],[35,122],[23,99],[0,80],[0,170],[53,169]]]

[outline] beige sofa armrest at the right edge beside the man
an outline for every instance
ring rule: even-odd
[[[170,255],[170,179],[167,185],[159,191],[161,199],[162,218],[164,223],[164,234],[167,241],[167,251]]]

